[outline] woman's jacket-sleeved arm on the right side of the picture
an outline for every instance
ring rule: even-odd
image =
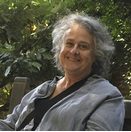
[[[123,129],[125,116],[122,96],[105,100],[91,115],[87,131],[118,131]]]

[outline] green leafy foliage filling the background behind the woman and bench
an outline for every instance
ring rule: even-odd
[[[58,74],[50,52],[52,26],[79,11],[107,25],[116,45],[111,81],[131,98],[130,8],[128,0],[0,0],[0,93],[16,76],[29,77],[34,88]]]

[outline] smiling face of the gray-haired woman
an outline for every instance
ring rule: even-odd
[[[79,24],[73,24],[65,33],[59,54],[60,64],[68,74],[88,75],[94,62],[93,36]]]

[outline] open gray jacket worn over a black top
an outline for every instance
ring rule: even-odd
[[[16,130],[34,110],[36,98],[52,94],[57,79],[47,81],[25,95],[12,114],[0,121],[0,130]],[[124,103],[119,90],[94,75],[77,91],[53,105],[43,116],[38,131],[119,131],[123,128]],[[23,130],[31,130],[33,119]]]

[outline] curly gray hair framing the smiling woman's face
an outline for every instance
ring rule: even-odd
[[[102,77],[108,77],[111,58],[115,50],[114,43],[107,28],[99,20],[84,14],[70,14],[60,19],[52,31],[54,60],[60,71],[62,66],[59,63],[59,54],[64,41],[65,32],[70,29],[72,23],[82,25],[93,35],[95,42],[95,62],[92,65],[92,72]]]

